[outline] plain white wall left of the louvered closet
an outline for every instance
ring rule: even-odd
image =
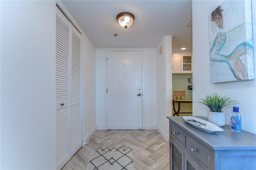
[[[1,1],[1,169],[55,169],[55,1]]]

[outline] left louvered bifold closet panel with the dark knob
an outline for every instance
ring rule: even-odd
[[[68,156],[68,95],[70,23],[56,9],[56,168],[69,160]]]

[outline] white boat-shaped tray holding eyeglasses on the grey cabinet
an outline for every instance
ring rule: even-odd
[[[199,119],[199,118],[192,117],[192,116],[183,116],[183,119],[190,125],[192,125],[196,128],[199,128],[208,133],[223,131],[222,128],[214,125],[213,123],[205,121],[203,119]]]

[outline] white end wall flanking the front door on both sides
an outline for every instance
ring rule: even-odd
[[[122,49],[130,50],[130,48]],[[156,129],[156,49],[144,48],[144,129]],[[96,48],[96,124],[105,129],[105,48]]]

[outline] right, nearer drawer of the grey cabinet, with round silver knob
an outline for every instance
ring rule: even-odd
[[[210,168],[210,151],[199,144],[196,140],[185,134],[185,148],[196,160],[201,162],[206,169]]]

